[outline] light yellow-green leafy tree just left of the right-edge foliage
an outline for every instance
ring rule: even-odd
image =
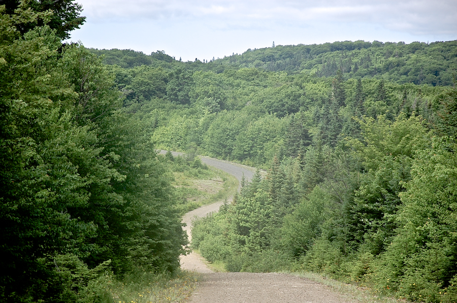
[[[376,255],[395,235],[394,215],[402,204],[402,184],[410,180],[415,152],[429,145],[430,134],[420,117],[406,119],[401,115],[390,122],[379,116],[378,120],[365,118],[360,123],[364,139],[353,140],[350,146],[355,158],[363,159],[361,169],[365,173],[358,177],[360,187],[348,206],[348,223],[354,240]]]

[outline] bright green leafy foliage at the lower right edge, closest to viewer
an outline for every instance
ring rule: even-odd
[[[399,295],[441,301],[457,274],[455,267],[455,156],[447,138],[434,138],[432,148],[417,153],[411,180],[400,197],[398,233],[382,256],[379,279]],[[395,256],[402,256],[396,260]],[[389,284],[390,283],[390,284]],[[453,297],[447,298],[455,300]]]

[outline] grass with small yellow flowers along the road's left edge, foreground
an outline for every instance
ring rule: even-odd
[[[180,272],[176,277],[151,272],[128,274],[110,286],[115,303],[186,302],[199,281],[198,274]]]

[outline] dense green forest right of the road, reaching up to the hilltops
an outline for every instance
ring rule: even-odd
[[[195,222],[192,247],[207,260],[453,302],[456,50],[336,42],[209,62],[90,51],[149,115],[157,147],[269,171]]]

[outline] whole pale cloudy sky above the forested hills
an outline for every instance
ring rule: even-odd
[[[86,23],[71,41],[164,50],[183,61],[247,49],[335,41],[457,39],[456,0],[77,0]]]

